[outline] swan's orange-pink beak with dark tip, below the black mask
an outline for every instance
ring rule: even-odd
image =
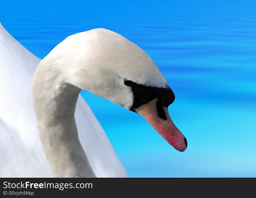
[[[173,124],[168,113],[168,107],[159,107],[157,100],[158,98],[155,98],[147,104],[143,104],[136,108],[136,113],[144,117],[147,122],[149,122],[151,126],[175,149],[181,152],[185,151],[188,145],[185,136]]]

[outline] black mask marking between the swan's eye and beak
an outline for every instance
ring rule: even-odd
[[[125,80],[125,85],[131,87],[131,90],[133,92],[134,99],[133,99],[133,105],[131,106],[130,110],[134,112],[136,108],[138,108],[143,104],[147,104],[149,101],[155,99],[156,97],[158,97],[158,101],[159,101],[159,104],[161,104],[161,107],[162,106],[168,107],[170,104],[173,103],[175,99],[174,93],[170,87],[159,88],[159,87],[145,86],[145,85],[134,83],[133,81],[129,81],[129,80]],[[163,110],[163,113],[164,113],[164,110]],[[163,115],[163,113],[160,113],[160,115]]]

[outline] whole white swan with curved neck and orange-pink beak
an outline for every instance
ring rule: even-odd
[[[1,176],[127,176],[81,90],[138,113],[175,149],[186,149],[168,113],[175,99],[168,83],[118,33],[97,28],[68,36],[42,60],[1,24],[0,33]]]

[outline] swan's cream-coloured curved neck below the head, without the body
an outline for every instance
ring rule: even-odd
[[[56,177],[95,177],[79,142],[74,112],[81,89],[35,72],[33,103],[40,140]]]

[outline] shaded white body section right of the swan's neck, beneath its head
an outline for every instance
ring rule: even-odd
[[[79,140],[97,177],[127,177],[102,126],[79,94],[75,119]],[[89,133],[88,133],[89,132]]]

